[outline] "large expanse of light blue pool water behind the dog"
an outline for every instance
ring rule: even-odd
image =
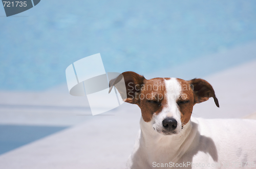
[[[253,0],[44,0],[12,17],[0,5],[0,90],[48,89],[95,53],[106,72],[174,67],[255,40],[255,18]]]

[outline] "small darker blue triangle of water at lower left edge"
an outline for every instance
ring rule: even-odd
[[[0,125],[0,155],[67,127]]]

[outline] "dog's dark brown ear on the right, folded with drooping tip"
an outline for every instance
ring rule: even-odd
[[[220,107],[219,101],[215,96],[214,88],[206,80],[201,78],[194,78],[188,81],[190,88],[194,92],[195,103],[201,103],[208,100],[210,97],[214,98],[217,107]]]

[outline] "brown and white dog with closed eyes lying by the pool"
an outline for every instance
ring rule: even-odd
[[[193,106],[210,97],[219,107],[212,86],[203,79],[145,79],[123,72],[123,100],[141,109],[140,130],[126,168],[256,168],[256,121],[193,118]],[[232,98],[230,98],[232,99]]]

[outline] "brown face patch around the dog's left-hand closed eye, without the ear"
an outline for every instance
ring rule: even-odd
[[[164,97],[165,91],[164,78],[147,80],[142,86],[138,105],[145,122],[150,122],[154,114],[157,115],[162,111],[163,105],[167,102]]]

